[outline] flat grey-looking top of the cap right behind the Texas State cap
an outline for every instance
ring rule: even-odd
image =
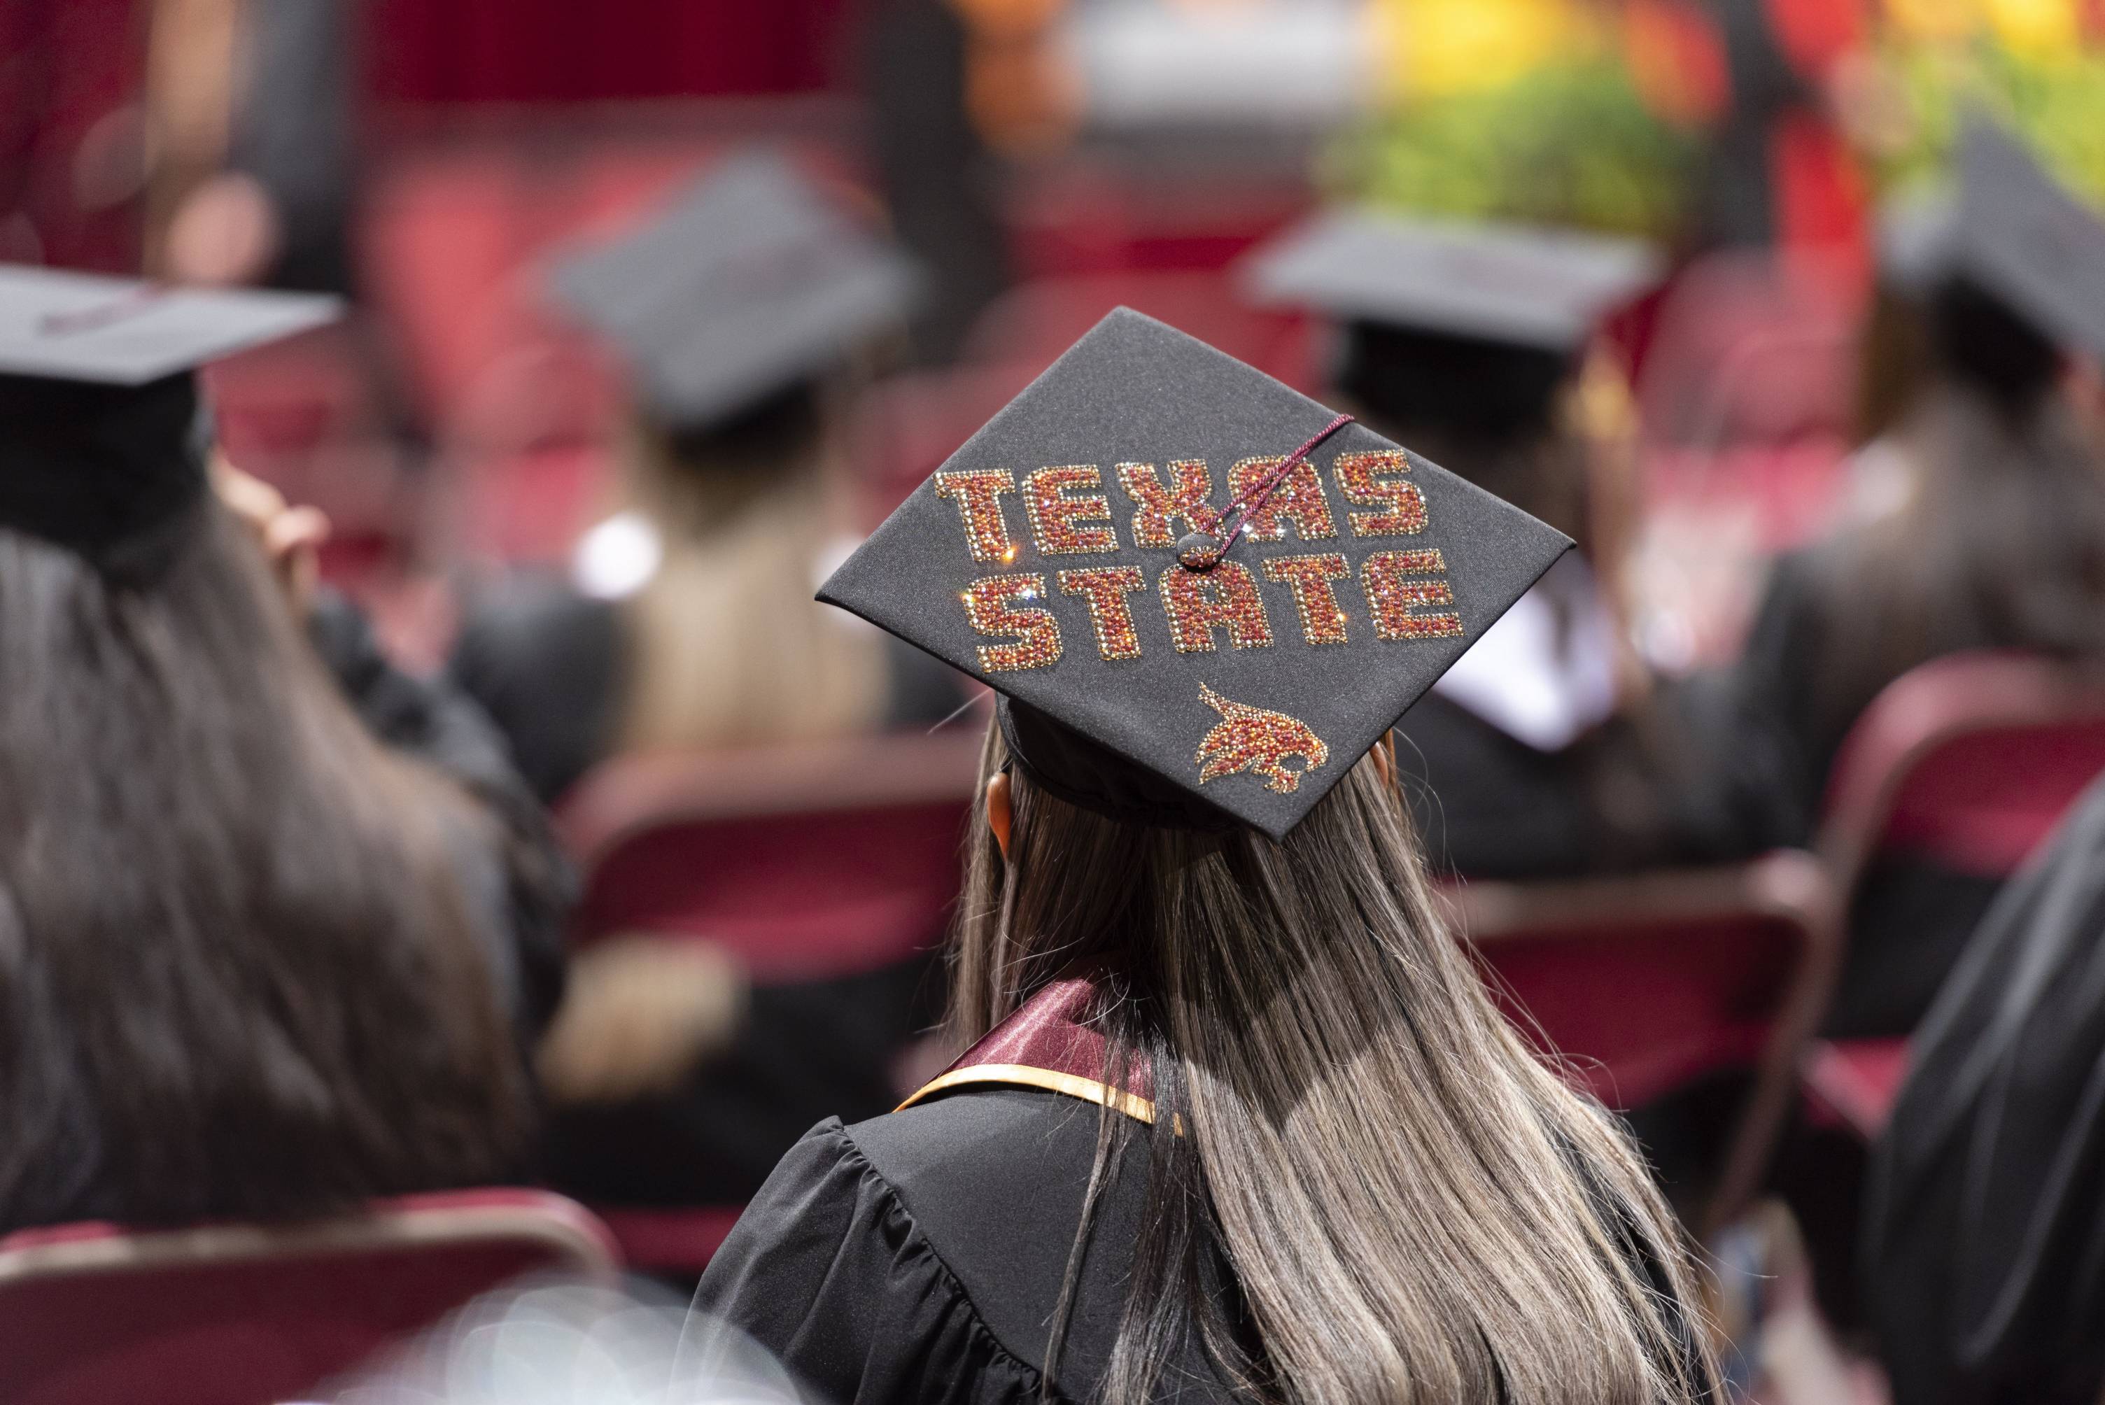
[[[1318,215],[1244,265],[1259,303],[1558,353],[1659,271],[1636,240],[1375,210]]]

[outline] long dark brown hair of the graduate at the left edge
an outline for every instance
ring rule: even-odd
[[[516,1172],[457,860],[217,503],[149,589],[0,530],[0,1228],[309,1216]]]

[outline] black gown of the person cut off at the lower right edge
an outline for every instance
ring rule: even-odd
[[[1924,1018],[1873,1151],[1863,1264],[1897,1405],[2105,1390],[2105,782]]]

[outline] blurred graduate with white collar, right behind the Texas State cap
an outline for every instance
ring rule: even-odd
[[[1341,210],[1261,248],[1246,278],[1255,299],[1326,320],[1330,385],[1381,433],[1579,543],[1398,726],[1434,864],[1551,877],[1709,856],[1726,839],[1688,803],[1695,742],[1627,644],[1619,564],[1600,557],[1606,446],[1577,406],[1602,318],[1659,259],[1564,229]]]

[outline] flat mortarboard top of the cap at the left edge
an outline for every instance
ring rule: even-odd
[[[0,265],[0,374],[145,385],[335,322],[333,297]]]

